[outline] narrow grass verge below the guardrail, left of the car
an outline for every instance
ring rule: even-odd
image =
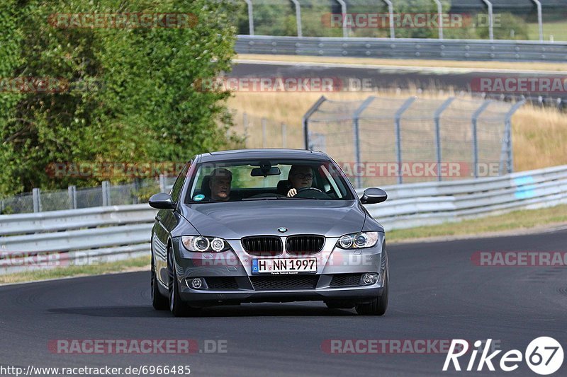
[[[0,275],[0,284],[33,282],[35,280],[58,279],[62,277],[111,274],[113,272],[132,272],[142,269],[150,271],[150,255],[117,262],[101,263],[99,265],[55,267],[52,269],[37,269],[35,271]]]

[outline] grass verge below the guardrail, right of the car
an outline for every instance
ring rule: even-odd
[[[508,214],[487,216],[480,219],[464,220],[458,223],[444,223],[435,226],[418,226],[416,228],[388,231],[388,242],[402,242],[423,238],[441,238],[451,236],[476,236],[478,234],[494,234],[506,231],[525,229],[537,230],[544,226],[565,225],[567,223],[567,204],[543,209],[523,209]]]

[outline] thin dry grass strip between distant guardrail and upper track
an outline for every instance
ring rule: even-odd
[[[468,69],[505,69],[505,70],[533,70],[533,71],[565,71],[564,63],[540,62],[458,62],[453,60],[427,60],[427,59],[375,59],[370,57],[311,57],[303,55],[272,55],[272,54],[239,54],[236,59],[245,60],[272,60],[279,62],[306,62],[306,63],[335,63],[335,64],[369,64],[379,66],[422,66],[442,68],[468,68]]]

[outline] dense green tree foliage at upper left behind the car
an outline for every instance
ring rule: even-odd
[[[4,0],[0,79],[80,83],[61,93],[0,93],[0,194],[92,185],[52,179],[64,161],[187,161],[230,146],[229,93],[199,79],[229,71],[229,0]],[[56,13],[191,13],[191,28],[60,28]]]

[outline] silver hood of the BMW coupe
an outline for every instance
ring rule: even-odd
[[[320,234],[339,237],[361,231],[366,214],[356,200],[276,199],[184,205],[182,215],[202,236]],[[279,233],[278,228],[288,231]],[[378,230],[378,229],[377,229]]]

